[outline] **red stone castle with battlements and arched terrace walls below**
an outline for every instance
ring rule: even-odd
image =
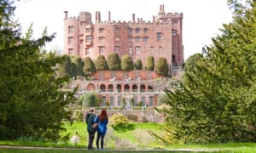
[[[95,23],[89,12],[80,12],[78,17],[68,17],[64,12],[64,54],[89,56],[96,59],[103,54],[117,53],[119,57],[129,54],[131,59],[141,59],[145,65],[149,55],[154,61],[165,57],[170,70],[183,65],[183,14],[165,13],[164,5],[152,21],[131,15],[131,21],[101,20],[101,13],[96,11]],[[173,72],[173,71],[171,71]],[[97,71],[92,81],[74,81],[79,85],[79,92],[94,90],[102,99],[102,106],[121,106],[133,103],[155,106],[164,87],[161,76],[154,71]],[[154,79],[160,82],[154,82]]]

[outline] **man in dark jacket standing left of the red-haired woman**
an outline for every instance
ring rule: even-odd
[[[89,135],[89,141],[88,141],[88,150],[93,150],[92,147],[93,139],[96,133],[96,128],[93,128],[92,125],[94,123],[94,119],[96,117],[96,114],[94,112],[94,108],[90,108],[89,113],[86,116],[86,124],[87,124],[87,132]]]

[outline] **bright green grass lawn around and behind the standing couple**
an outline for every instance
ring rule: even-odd
[[[31,142],[26,139],[16,141],[0,140],[0,153],[2,152],[98,152],[86,150],[88,135],[84,122],[64,123],[67,131],[61,132],[62,140],[56,143]],[[105,142],[107,150],[104,152],[256,152],[255,143],[241,144],[165,144],[156,139],[150,132],[166,136],[159,124],[131,123],[125,129],[108,127]],[[73,144],[69,140],[78,133],[79,143]],[[66,139],[67,141],[64,141]],[[1,147],[2,145],[2,147]],[[9,146],[32,146],[37,148],[6,148]],[[94,143],[94,146],[96,144]],[[46,147],[46,148],[39,148]]]

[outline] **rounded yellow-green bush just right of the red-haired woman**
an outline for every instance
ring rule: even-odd
[[[114,114],[110,117],[109,121],[113,128],[123,128],[129,126],[129,120],[123,114]]]

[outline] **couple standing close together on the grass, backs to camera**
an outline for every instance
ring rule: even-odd
[[[104,137],[107,133],[108,128],[108,115],[106,110],[102,110],[101,114],[96,116],[94,108],[90,108],[89,113],[86,115],[86,124],[87,124],[87,132],[89,135],[88,140],[88,150],[93,150],[93,140],[95,137],[95,133],[97,132],[96,137],[96,147],[97,150],[100,149],[99,141],[101,139],[101,149],[104,149]]]

